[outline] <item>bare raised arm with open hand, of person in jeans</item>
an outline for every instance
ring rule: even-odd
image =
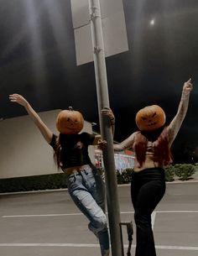
[[[29,117],[34,121],[35,125],[39,128],[40,133],[44,136],[44,139],[48,144],[50,144],[53,133],[50,131],[50,128],[48,128],[41,120],[37,112],[34,111],[29,102],[17,93],[9,95],[9,99],[10,102],[16,102],[26,109],[26,111],[29,113]]]

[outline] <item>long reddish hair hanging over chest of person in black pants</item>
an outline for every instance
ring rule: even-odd
[[[168,131],[162,127],[152,132],[138,132],[134,142],[134,149],[139,167],[143,166],[146,159],[148,140],[153,143],[154,162],[160,165],[169,165],[172,155],[169,149]]]

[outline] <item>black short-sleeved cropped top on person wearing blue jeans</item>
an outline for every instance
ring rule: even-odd
[[[60,133],[60,163],[61,169],[69,167],[89,165],[91,159],[88,154],[88,146],[93,144],[95,134],[62,134]],[[50,145],[55,149],[58,136],[53,134]]]

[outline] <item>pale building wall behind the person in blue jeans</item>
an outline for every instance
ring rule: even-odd
[[[54,132],[55,119],[60,110],[40,112],[39,116]],[[92,132],[85,122],[83,131]],[[29,116],[9,118],[0,122],[0,179],[56,173],[53,149],[39,133]],[[89,150],[94,161],[93,150]]]

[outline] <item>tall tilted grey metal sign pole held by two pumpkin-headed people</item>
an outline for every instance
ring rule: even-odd
[[[112,130],[108,118],[102,116],[101,114],[101,109],[103,107],[109,107],[109,98],[104,42],[102,35],[102,18],[99,0],[89,0],[89,9],[100,127],[102,138],[107,140],[107,148],[103,150],[103,160],[105,166],[107,210],[112,256],[123,256],[122,232],[120,229],[120,208],[118,203],[117,175],[114,161]]]

